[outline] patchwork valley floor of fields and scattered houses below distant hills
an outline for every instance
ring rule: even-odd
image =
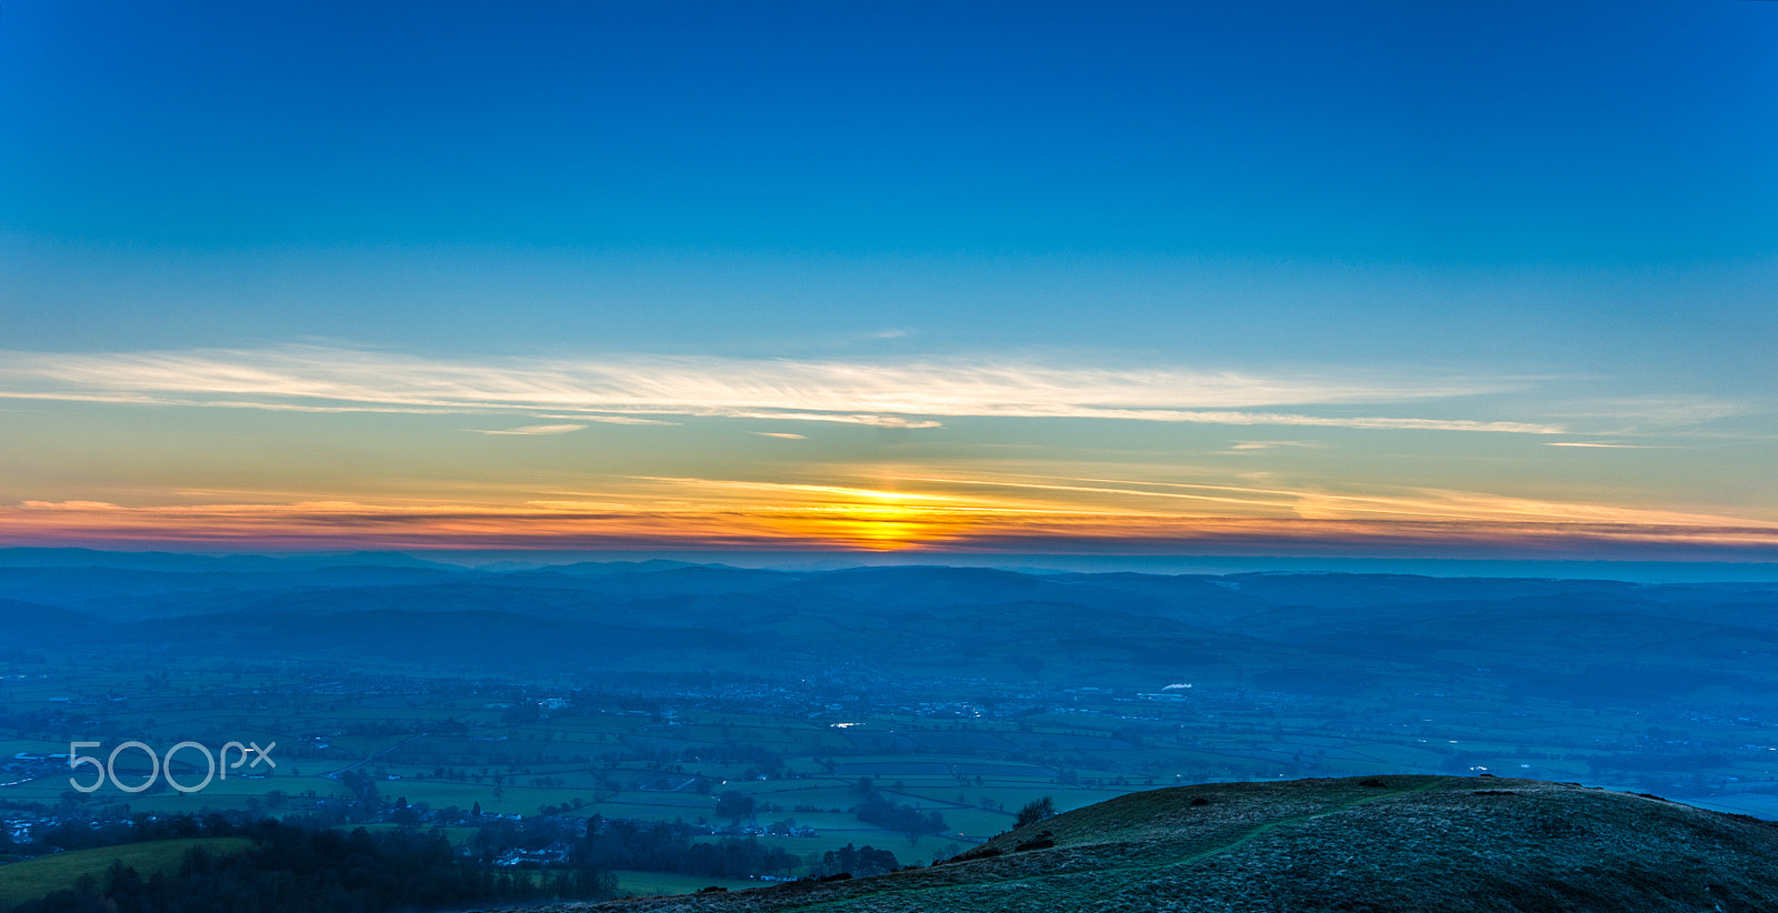
[[[1067,810],[1145,787],[1216,780],[1497,771],[1604,780],[1675,798],[1709,783],[1725,808],[1778,806],[1778,753],[1725,751],[1712,757],[1714,767],[1666,782],[1648,773],[1602,778],[1590,758],[1611,757],[1602,742],[1622,739],[1639,721],[1558,705],[1502,716],[1451,700],[1415,709],[1355,696],[1293,709],[1278,696],[1262,702],[1252,693],[1204,689],[1195,703],[1134,707],[1117,693],[1077,695],[1067,712],[1017,719],[868,711],[809,719],[709,711],[695,698],[656,702],[645,712],[576,705],[516,719],[516,707],[537,703],[546,691],[507,684],[464,693],[469,689],[461,682],[363,680],[357,693],[316,695],[315,673],[201,666],[156,679],[155,698],[126,696],[132,689],[123,675],[92,668],[39,673],[23,687],[16,682],[5,679],[4,689],[14,718],[78,709],[85,718],[60,730],[69,741],[100,741],[100,753],[124,735],[164,746],[176,739],[277,744],[276,769],[219,778],[192,794],[164,787],[124,794],[107,785],[69,796],[68,774],[52,771],[11,776],[0,789],[0,799],[9,801],[73,801],[135,814],[304,812],[345,801],[350,790],[341,774],[359,771],[384,799],[462,815],[478,806],[484,815],[681,821],[736,833],[756,828],[757,838],[798,856],[873,844],[925,861],[946,846],[1005,831],[1013,810],[1042,796]],[[973,696],[996,700],[994,691]],[[153,707],[137,707],[142,700]],[[9,755],[66,753],[66,742],[43,732],[4,735],[0,748]],[[133,751],[119,757],[121,780],[146,776],[137,758]],[[60,764],[66,769],[66,760]],[[180,767],[183,782],[201,774],[190,764]],[[852,808],[861,782],[893,803],[942,815],[944,833],[910,840],[859,821]],[[750,798],[752,814],[720,819],[717,798],[724,792]],[[814,828],[816,835],[768,837],[765,828],[773,822]]]

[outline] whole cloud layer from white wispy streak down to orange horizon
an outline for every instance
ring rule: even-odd
[[[1607,432],[1566,410],[1588,428],[1559,426],[1540,417],[1543,393],[1515,378],[1382,369],[990,359],[16,352],[0,353],[0,398],[192,409],[153,421],[73,409],[57,425],[43,419],[53,409],[20,419],[59,437],[0,453],[16,469],[0,485],[18,499],[0,504],[0,542],[1778,554],[1778,517],[1762,504],[1678,485],[1709,478],[1694,469],[1705,449],[1625,432],[1620,416]],[[203,409],[448,417],[391,433],[380,419],[272,417],[251,423],[270,442],[245,446],[242,423],[204,421],[215,414]],[[1054,419],[1149,425],[1111,433],[1045,425]],[[809,425],[789,425],[816,421],[957,428],[804,435],[791,428]],[[1149,433],[1157,423],[1252,428]],[[119,435],[139,444],[108,446]]]

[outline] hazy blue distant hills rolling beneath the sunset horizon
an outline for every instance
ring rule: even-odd
[[[453,670],[845,666],[1157,689],[1778,695],[1778,584],[1403,574],[469,570],[389,554],[0,551],[5,648],[388,659]]]

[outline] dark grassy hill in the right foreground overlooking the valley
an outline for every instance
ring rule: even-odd
[[[930,869],[549,909],[1778,909],[1778,824],[1536,780],[1214,783],[1079,808]]]

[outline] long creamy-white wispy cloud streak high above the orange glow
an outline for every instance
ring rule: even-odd
[[[283,346],[0,355],[0,396],[277,410],[553,412],[560,421],[725,416],[933,428],[948,417],[1561,433],[1547,421],[1353,416],[1351,407],[1517,389],[1510,380],[1321,377],[1017,361],[619,357],[441,361]],[[1317,414],[1305,407],[1337,407]]]

